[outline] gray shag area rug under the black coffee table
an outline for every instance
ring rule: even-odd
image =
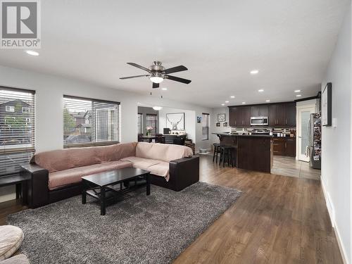
[[[22,228],[31,263],[171,263],[229,208],[241,191],[204,182],[182,191],[155,185],[106,208],[87,196],[8,215]]]

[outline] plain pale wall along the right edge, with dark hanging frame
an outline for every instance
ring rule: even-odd
[[[322,89],[327,82],[332,82],[332,118],[337,118],[337,127],[322,127],[322,185],[341,251],[351,263],[351,8]]]

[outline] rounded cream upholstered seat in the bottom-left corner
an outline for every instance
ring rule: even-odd
[[[13,225],[0,226],[0,261],[10,258],[23,241],[23,232],[20,227]]]

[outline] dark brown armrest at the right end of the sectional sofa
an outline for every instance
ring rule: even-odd
[[[169,183],[175,191],[181,191],[185,187],[199,182],[199,156],[170,161],[169,168]]]

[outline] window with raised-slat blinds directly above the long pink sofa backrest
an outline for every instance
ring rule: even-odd
[[[63,146],[103,146],[120,142],[120,103],[63,96]]]

